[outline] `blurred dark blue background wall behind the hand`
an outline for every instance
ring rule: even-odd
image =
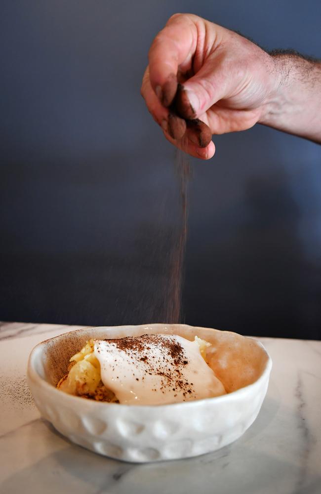
[[[174,150],[140,96],[175,12],[320,57],[321,3],[2,1],[0,320],[161,322]],[[255,126],[191,159],[188,324],[321,337],[321,148]]]

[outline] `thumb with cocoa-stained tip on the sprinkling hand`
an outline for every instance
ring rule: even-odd
[[[179,84],[175,96],[176,112],[185,119],[199,118],[224,97],[226,87],[219,61],[208,59],[195,76]]]

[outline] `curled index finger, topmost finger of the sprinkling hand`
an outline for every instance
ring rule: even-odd
[[[168,107],[177,89],[179,66],[188,66],[197,46],[197,27],[189,15],[171,17],[149,51],[151,85],[161,103]]]

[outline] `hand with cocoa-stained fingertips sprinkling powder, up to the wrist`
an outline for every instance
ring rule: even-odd
[[[175,95],[176,114],[222,134],[263,120],[276,84],[273,57],[256,44],[196,15],[175,14],[152,43],[141,93],[169,142],[209,159],[215,146],[202,147],[206,127],[186,128],[170,112]]]

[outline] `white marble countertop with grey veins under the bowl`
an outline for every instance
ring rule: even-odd
[[[79,326],[0,323],[0,493],[321,493],[321,341],[259,338],[266,399],[235,443],[187,460],[123,463],[75,446],[40,418],[26,383],[40,341]]]

